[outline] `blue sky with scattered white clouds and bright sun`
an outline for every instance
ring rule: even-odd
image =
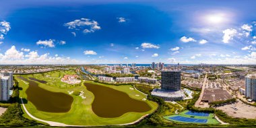
[[[0,64],[256,64],[254,0],[0,0]]]

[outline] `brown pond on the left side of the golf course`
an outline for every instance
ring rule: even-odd
[[[44,90],[38,84],[25,77],[18,77],[29,83],[26,90],[28,101],[36,106],[37,110],[49,113],[66,113],[70,110],[73,97],[61,92]]]

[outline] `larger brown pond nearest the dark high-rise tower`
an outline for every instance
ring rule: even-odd
[[[96,84],[84,85],[94,94],[92,110],[98,117],[114,118],[129,112],[144,113],[151,110],[146,102],[130,98],[125,92]]]

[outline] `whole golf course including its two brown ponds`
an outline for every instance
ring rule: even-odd
[[[121,125],[137,121],[158,107],[131,85],[84,80],[80,84],[61,82],[64,75],[73,74],[76,74],[74,70],[59,70],[14,77],[28,112],[46,121],[67,125]],[[24,117],[31,119],[26,113]]]

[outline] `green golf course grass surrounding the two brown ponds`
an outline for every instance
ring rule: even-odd
[[[58,73],[59,72],[59,73]],[[22,75],[23,77],[36,77],[37,79],[44,80],[49,84],[41,84],[38,83],[40,88],[44,88],[45,90],[49,90],[52,92],[63,92],[68,94],[67,91],[84,91],[84,96],[86,99],[82,99],[79,96],[71,95],[74,98],[73,104],[71,105],[71,110],[68,113],[46,113],[39,110],[36,110],[36,107],[28,101],[28,104],[25,104],[26,108],[29,110],[30,114],[34,115],[34,117],[38,117],[39,119],[44,119],[47,121],[56,121],[60,123],[65,123],[68,125],[117,125],[123,123],[131,123],[136,121],[143,115],[149,114],[156,110],[158,104],[156,102],[152,102],[146,100],[151,107],[152,110],[146,113],[125,113],[121,117],[117,118],[102,118],[95,115],[92,111],[92,101],[94,100],[94,95],[92,92],[86,90],[84,86],[84,82],[82,82],[79,86],[71,86],[67,85],[60,81],[60,78],[64,74],[72,74],[75,73],[74,71],[52,71],[48,73],[42,74],[34,74],[34,75]],[[50,75],[51,77],[46,77],[46,75]],[[18,80],[20,87],[20,97],[26,98],[26,89],[28,88],[28,82],[24,82],[22,79],[18,79],[17,75],[15,78]],[[90,81],[85,81],[92,84],[98,84]],[[119,90],[121,92],[127,93],[131,98],[141,100],[142,98],[146,98],[145,95],[141,94],[137,90],[131,90],[132,86],[111,86],[111,85],[104,85],[98,84],[100,86],[108,86],[109,88],[113,88],[115,90]],[[139,96],[135,96],[135,95]],[[30,119],[28,115],[24,115],[24,117]]]

